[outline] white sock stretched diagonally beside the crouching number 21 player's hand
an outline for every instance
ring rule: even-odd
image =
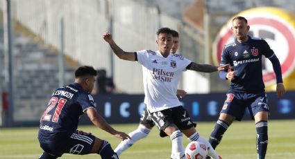
[[[128,133],[131,140],[128,138],[126,140],[121,141],[114,151],[119,156],[123,151],[131,147],[135,142],[142,138],[146,138],[146,136],[149,135],[150,131],[151,129],[148,129],[144,127],[144,125],[140,124],[140,126],[138,126],[138,128],[135,131]]]

